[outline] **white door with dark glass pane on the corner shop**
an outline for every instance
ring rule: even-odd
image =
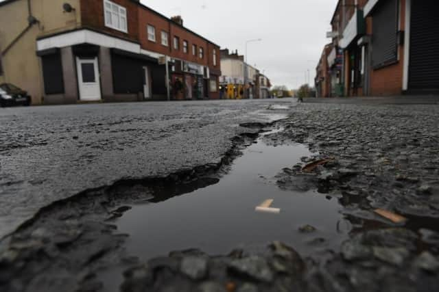
[[[94,59],[76,58],[78,66],[78,85],[81,101],[100,101],[101,85],[99,83],[99,69],[97,57]]]

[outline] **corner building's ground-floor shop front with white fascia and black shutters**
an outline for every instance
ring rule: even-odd
[[[38,39],[36,55],[45,104],[143,101],[165,85],[154,84],[164,68],[139,44],[87,29]]]

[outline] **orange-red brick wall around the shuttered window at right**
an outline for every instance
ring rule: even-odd
[[[405,26],[405,0],[401,0],[401,30]],[[368,34],[372,34],[372,17],[367,18]],[[399,61],[390,66],[385,66],[370,72],[370,95],[399,95],[403,88],[403,59],[404,46],[399,46]]]

